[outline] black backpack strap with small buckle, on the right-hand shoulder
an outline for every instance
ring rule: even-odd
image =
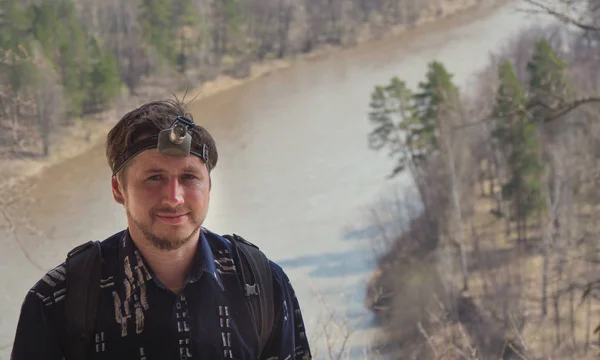
[[[260,354],[269,341],[275,323],[273,275],[269,259],[258,246],[239,235],[225,235],[224,237],[231,241],[238,258],[244,294],[260,341]]]

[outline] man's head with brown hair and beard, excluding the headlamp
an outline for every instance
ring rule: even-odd
[[[210,171],[218,158],[212,136],[200,126],[189,130],[191,151],[207,154],[206,163],[193,154],[169,156],[156,148],[130,156],[136,144],[168,129],[178,117],[192,120],[177,101],[151,102],[127,113],[106,141],[109,166],[118,170],[112,178],[113,197],[125,207],[131,235],[164,250],[198,236],[208,211]]]

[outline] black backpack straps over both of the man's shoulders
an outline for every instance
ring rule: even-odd
[[[231,242],[233,261],[238,269],[246,304],[259,339],[260,355],[275,322],[273,280],[269,260],[258,246],[241,236],[224,235]],[[65,297],[65,356],[85,360],[94,338],[100,296],[102,252],[99,241],[79,245],[67,254],[67,293]]]

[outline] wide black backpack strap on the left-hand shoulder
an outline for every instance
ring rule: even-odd
[[[93,341],[100,295],[100,242],[89,241],[71,250],[67,255],[65,268],[65,356],[67,360],[84,360]]]

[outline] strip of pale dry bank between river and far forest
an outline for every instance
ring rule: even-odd
[[[447,0],[441,4],[432,4],[422,14],[415,26],[411,28],[398,26],[382,30],[373,26],[366,26],[360,32],[357,42],[351,46],[320,47],[310,53],[298,54],[287,59],[267,60],[252,64],[249,76],[242,79],[224,75],[217,76],[214,80],[207,81],[199,87],[189,89],[186,99],[189,100],[194,97],[194,101],[205,99],[263,76],[268,76],[274,71],[289,68],[299,61],[317,60],[322,57],[331,56],[335,52],[343,51],[348,47],[360,46],[367,42],[384,41],[413,32],[416,32],[414,35],[418,36],[418,32],[426,31],[430,27],[443,28],[451,26],[452,21],[466,22],[471,16],[482,11],[491,11],[499,4],[506,2],[508,0]],[[179,84],[176,86],[179,86]],[[106,133],[125,112],[151,99],[169,97],[172,91],[160,92],[148,88],[143,89],[140,93],[144,95],[137,97],[129,96],[119,101],[112,109],[101,115],[76,119],[71,126],[62,128],[60,133],[53,137],[48,157],[24,156],[20,158],[0,158],[0,168],[2,168],[0,190],[11,188],[28,179],[33,179],[44,169],[89,151],[92,147],[104,141]],[[183,98],[183,92],[179,92],[177,96]]]

